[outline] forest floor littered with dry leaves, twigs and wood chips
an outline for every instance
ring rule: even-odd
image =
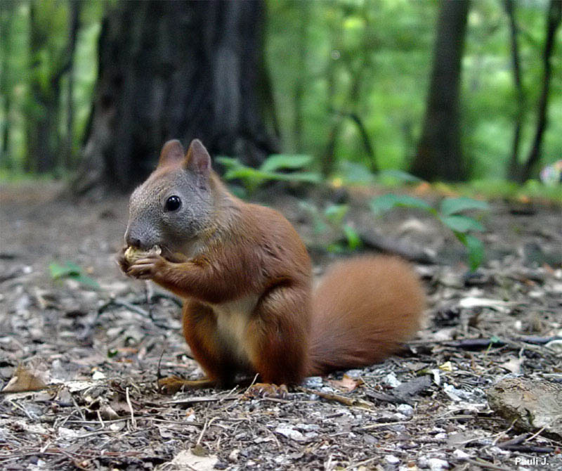
[[[429,295],[417,338],[384,363],[308,378],[285,398],[242,387],[165,396],[158,374],[202,374],[178,299],[119,272],[126,198],[72,202],[59,189],[0,192],[0,389],[46,385],[0,394],[2,470],[562,469],[556,430],[521,430],[488,402],[506,378],[561,386],[560,207],[491,202],[488,259],[468,276],[462,246],[431,218],[399,209],[374,219],[370,192],[351,192],[356,228],[437,254],[440,264],[415,264]],[[327,242],[299,198],[268,193],[317,247],[315,274],[343,256],[318,250]],[[53,279],[49,265],[66,262],[74,276]]]

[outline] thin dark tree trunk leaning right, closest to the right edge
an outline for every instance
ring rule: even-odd
[[[535,138],[532,141],[532,146],[527,157],[527,161],[523,164],[521,174],[518,180],[523,183],[530,179],[530,176],[535,171],[535,166],[540,159],[540,150],[542,146],[542,136],[544,129],[547,128],[547,108],[549,100],[550,80],[552,76],[552,64],[550,58],[554,51],[556,38],[556,30],[560,26],[562,20],[562,1],[550,0],[549,10],[547,13],[547,39],[544,43],[544,50],[542,53],[542,62],[544,67],[544,74],[542,79],[542,90],[539,98],[539,110],[537,112],[537,128],[535,130]]]

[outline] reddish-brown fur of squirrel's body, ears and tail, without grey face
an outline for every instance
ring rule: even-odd
[[[207,170],[200,143],[183,162],[178,146],[166,144],[149,182],[166,181],[178,165],[208,171],[213,224],[184,262],[152,255],[131,266],[123,257],[120,263],[132,276],[151,278],[187,299],[183,334],[209,379],[228,385],[241,372],[259,373],[263,382],[296,383],[305,375],[379,361],[418,330],[424,294],[405,262],[392,257],[341,262],[312,299],[311,262],[289,221],[230,195]],[[253,306],[247,312],[232,308],[237,302],[246,306],[246,299]],[[229,316],[238,317],[229,324]],[[235,340],[219,332],[218,320],[225,318],[229,328],[243,327]]]

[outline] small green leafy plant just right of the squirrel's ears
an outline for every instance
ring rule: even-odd
[[[253,193],[260,185],[270,180],[301,183],[322,181],[319,173],[303,170],[313,161],[310,155],[270,155],[258,169],[247,167],[234,157],[217,157],[216,161],[226,167],[223,178],[242,181],[248,193]],[[283,170],[292,170],[292,172],[284,173]]]

